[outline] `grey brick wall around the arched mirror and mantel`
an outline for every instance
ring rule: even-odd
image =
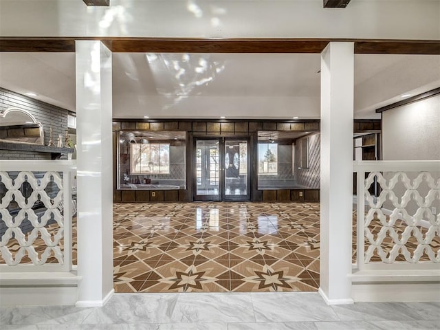
[[[43,124],[44,144],[47,146],[50,138],[50,126],[53,129],[53,140],[56,144],[58,135],[63,135],[67,129],[67,114],[69,111],[52,104],[34,100],[28,96],[17,94],[0,87],[0,111],[18,108],[34,115],[37,122]],[[50,160],[50,153],[33,153],[31,151],[0,150],[0,159],[39,159]]]

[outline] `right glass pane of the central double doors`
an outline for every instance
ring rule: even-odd
[[[225,141],[225,195],[248,194],[248,142]]]

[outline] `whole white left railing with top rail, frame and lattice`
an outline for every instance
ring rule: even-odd
[[[0,162],[0,272],[72,270],[75,168],[74,161]],[[25,194],[27,198],[23,196],[25,182],[32,189]],[[48,192],[49,186],[52,188]],[[38,214],[36,203],[40,204]]]

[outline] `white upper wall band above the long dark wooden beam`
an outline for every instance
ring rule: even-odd
[[[1,0],[1,36],[440,39],[438,0]]]

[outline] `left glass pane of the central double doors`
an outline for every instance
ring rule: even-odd
[[[219,142],[197,140],[195,164],[197,195],[219,195]]]

